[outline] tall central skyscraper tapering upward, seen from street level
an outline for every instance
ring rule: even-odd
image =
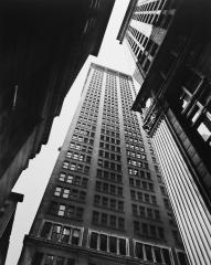
[[[92,64],[19,265],[186,265],[131,76]]]

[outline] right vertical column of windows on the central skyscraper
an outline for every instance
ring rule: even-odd
[[[154,192],[150,171],[145,153],[143,137],[136,114],[130,113],[133,94],[128,84],[129,81],[120,82],[120,95],[126,141],[126,158],[130,186],[131,210],[134,215],[134,233],[136,236],[154,237],[159,240],[163,235],[163,230],[155,223],[160,222],[160,213]],[[141,180],[144,179],[144,180]],[[141,190],[140,190],[141,189]],[[148,219],[148,222],[140,223],[139,219]],[[155,220],[155,221],[154,221]],[[137,232],[138,231],[138,232]],[[163,237],[161,239],[163,240]]]

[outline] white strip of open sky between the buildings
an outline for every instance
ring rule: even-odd
[[[86,61],[64,100],[60,117],[54,119],[48,145],[43,146],[41,152],[30,161],[28,169],[22,172],[13,189],[13,191],[24,194],[24,201],[18,204],[6,265],[15,265],[19,259],[23,237],[29,233],[59,156],[57,148],[63,144],[80,100],[89,63],[103,64],[127,74],[134,73],[134,65],[131,61],[128,61],[130,56],[126,54],[125,47],[116,41],[128,3],[129,0],[116,0],[98,57],[89,56]]]

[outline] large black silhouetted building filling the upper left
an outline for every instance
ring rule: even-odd
[[[0,2],[0,206],[97,55],[115,0]]]

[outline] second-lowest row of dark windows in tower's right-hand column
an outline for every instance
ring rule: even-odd
[[[131,204],[131,210],[133,210],[134,216],[147,218],[147,219],[160,221],[160,212],[157,209]]]

